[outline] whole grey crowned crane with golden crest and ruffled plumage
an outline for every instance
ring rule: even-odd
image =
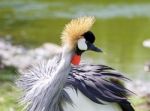
[[[102,52],[90,31],[94,22],[94,17],[73,19],[62,32],[61,53],[21,74],[17,85],[27,111],[134,111],[131,92],[122,84],[126,77],[105,65],[80,64],[85,51]]]

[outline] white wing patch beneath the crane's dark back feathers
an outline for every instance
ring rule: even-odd
[[[65,89],[71,99],[73,106],[66,104],[65,111],[122,111],[116,103],[97,104],[85,97],[79,90],[78,94],[71,88]]]

